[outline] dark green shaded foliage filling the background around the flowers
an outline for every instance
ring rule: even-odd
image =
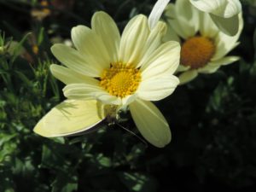
[[[57,62],[51,44],[70,38],[72,26],[89,25],[96,10],[122,29],[131,16],[148,15],[154,1],[77,0],[37,19],[31,13],[39,1],[0,0],[0,191],[255,191],[256,8],[241,2],[245,28],[234,50],[241,60],[156,103],[173,137],[160,149],[119,125],[55,139],[32,131],[64,99],[63,84],[49,73]],[[129,117],[121,124],[138,134]]]

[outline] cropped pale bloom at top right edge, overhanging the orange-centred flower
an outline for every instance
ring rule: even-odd
[[[234,36],[239,30],[239,0],[189,0],[195,8],[208,13],[218,28],[227,35]]]

